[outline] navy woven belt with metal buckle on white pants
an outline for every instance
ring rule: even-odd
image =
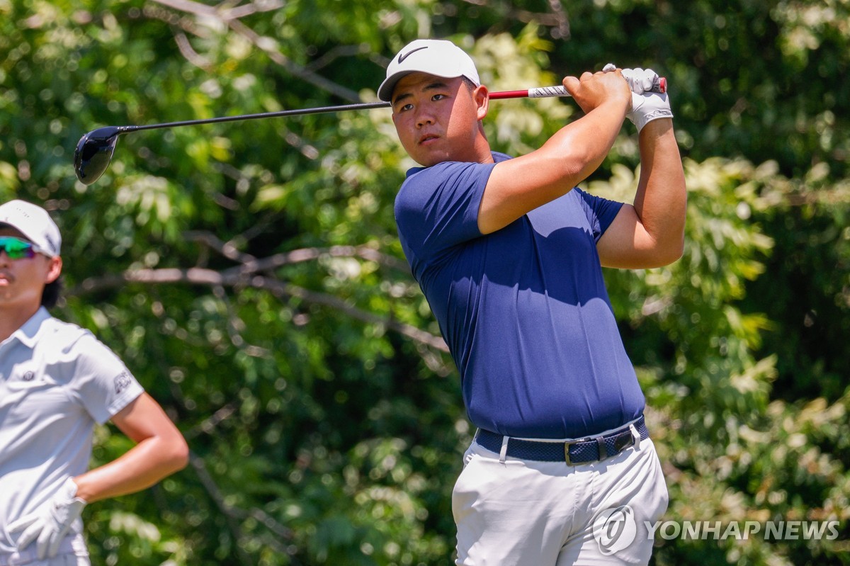
[[[642,440],[649,439],[649,430],[643,415],[633,423]],[[501,453],[504,437],[499,433],[479,428],[475,442],[490,450]],[[568,442],[542,442],[538,440],[508,439],[506,456],[520,460],[566,461],[568,464],[586,464],[616,456],[634,444],[631,427],[622,427],[604,436],[570,440]]]

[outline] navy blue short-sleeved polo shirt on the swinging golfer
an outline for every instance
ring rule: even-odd
[[[470,421],[539,439],[632,421],[643,393],[596,250],[622,203],[575,188],[482,235],[494,166],[413,168],[395,200],[401,245],[460,371]]]

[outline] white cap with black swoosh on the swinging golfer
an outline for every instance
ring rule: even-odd
[[[422,72],[428,75],[467,79],[481,84],[473,59],[454,43],[445,39],[416,39],[402,48],[387,67],[387,78],[377,89],[377,98],[387,102],[393,97],[395,83],[405,75]]]

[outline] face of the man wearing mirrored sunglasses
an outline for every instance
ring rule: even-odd
[[[10,226],[0,226],[0,236],[25,240],[26,236]],[[62,261],[37,253],[32,258],[12,259],[0,252],[0,308],[37,308],[44,286],[59,277]]]

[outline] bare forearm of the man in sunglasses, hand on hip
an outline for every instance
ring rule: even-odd
[[[73,478],[77,497],[88,503],[149,488],[185,467],[188,448],[182,436],[154,436],[123,456]]]

